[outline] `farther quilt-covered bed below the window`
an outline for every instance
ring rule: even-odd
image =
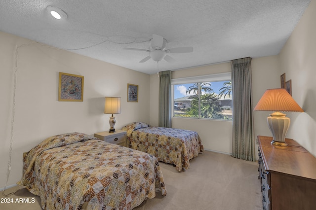
[[[190,160],[203,151],[197,132],[175,128],[150,126],[134,122],[121,130],[127,133],[127,145],[175,165],[178,172],[190,168]]]

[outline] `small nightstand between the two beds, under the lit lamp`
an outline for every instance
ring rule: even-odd
[[[110,133],[109,131],[104,131],[100,133],[95,133],[94,137],[100,140],[104,140],[109,143],[126,146],[126,131],[115,130],[114,133]]]

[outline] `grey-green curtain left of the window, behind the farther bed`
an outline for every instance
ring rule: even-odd
[[[171,71],[159,72],[159,127],[171,128]]]

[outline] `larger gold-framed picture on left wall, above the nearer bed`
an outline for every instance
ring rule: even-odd
[[[83,101],[83,76],[59,72],[58,101]]]

